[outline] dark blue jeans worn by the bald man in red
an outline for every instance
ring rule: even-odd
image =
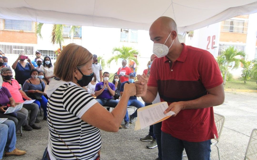
[[[185,131],[186,132],[186,131]],[[188,142],[179,140],[170,134],[161,133],[161,147],[163,160],[181,160],[182,153],[185,148],[188,159],[192,160],[210,160],[211,141]]]

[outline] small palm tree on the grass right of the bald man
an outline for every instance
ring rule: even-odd
[[[244,63],[244,59],[242,58],[237,58],[238,56],[242,56],[243,58],[245,57],[245,53],[243,51],[237,51],[234,46],[233,47],[228,47],[223,53],[222,56],[225,57],[226,59],[226,65],[225,65],[225,74],[224,74],[224,82],[223,84],[226,84],[226,78],[227,78],[227,72],[228,72],[228,65],[232,62],[235,62],[235,65],[232,69],[238,68],[240,62]]]

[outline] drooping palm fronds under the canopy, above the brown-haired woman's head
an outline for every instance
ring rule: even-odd
[[[41,35],[42,26],[43,26],[43,23],[38,23],[36,26],[36,34],[38,34],[40,38],[42,38],[42,35]],[[62,42],[64,41],[62,36],[64,26],[65,25],[62,25],[62,24],[54,24],[52,29],[52,36],[51,36],[52,44],[55,44],[55,43],[59,44],[61,50],[62,50]],[[79,26],[72,26],[70,29],[70,33],[71,34],[75,33],[75,28],[77,27]]]

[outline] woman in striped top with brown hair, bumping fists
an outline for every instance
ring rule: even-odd
[[[108,112],[85,89],[93,78],[93,55],[84,47],[69,44],[60,53],[47,90],[48,147],[43,159],[99,158],[100,130],[117,132],[127,110],[134,83],[126,84],[117,106]],[[81,87],[82,86],[82,87]]]

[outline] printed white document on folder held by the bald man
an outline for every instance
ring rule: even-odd
[[[137,109],[137,121],[134,130],[143,129],[152,124],[161,122],[175,114],[172,111],[164,114],[164,111],[168,107],[167,102],[160,102]]]

